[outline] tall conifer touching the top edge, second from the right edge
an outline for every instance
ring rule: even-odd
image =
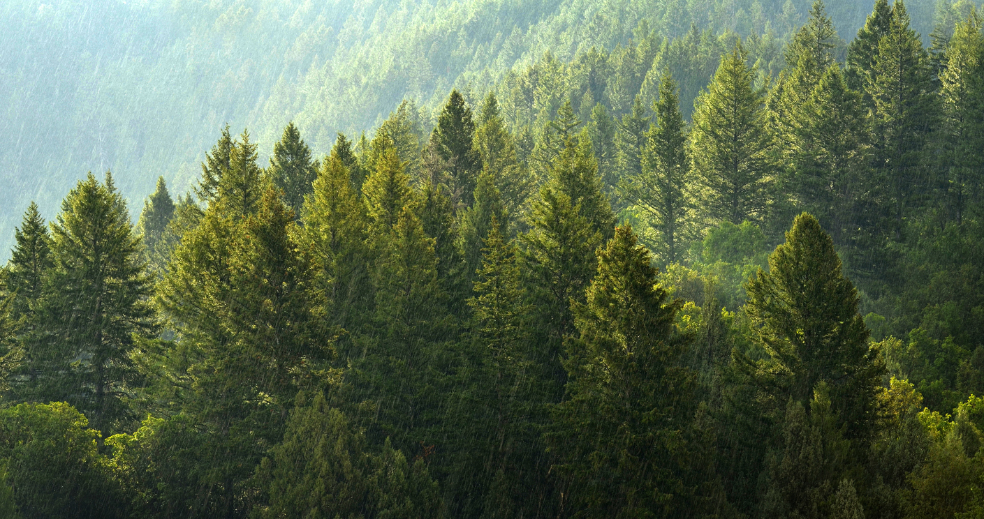
[[[901,1],[892,6],[892,22],[879,41],[865,90],[874,103],[876,174],[889,186],[897,239],[903,218],[920,205],[918,199],[929,185],[925,153],[936,115],[928,56],[909,29]]]

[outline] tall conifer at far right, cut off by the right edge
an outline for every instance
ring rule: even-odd
[[[946,62],[940,74],[942,165],[950,217],[962,223],[968,210],[978,206],[984,180],[984,36],[976,12],[956,24]]]

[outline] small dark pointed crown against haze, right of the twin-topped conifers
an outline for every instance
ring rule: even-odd
[[[293,121],[283,129],[283,137],[274,144],[269,174],[274,186],[283,194],[283,202],[300,218],[304,197],[318,175],[318,164],[311,159],[311,149],[294,126]]]

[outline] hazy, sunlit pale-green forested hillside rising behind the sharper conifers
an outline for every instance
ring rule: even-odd
[[[643,22],[659,40],[693,24],[784,41],[808,9],[808,0],[5,0],[0,249],[13,245],[20,207],[33,200],[55,211],[87,171],[111,169],[130,202],[160,175],[190,189],[225,123],[251,129],[261,162],[291,120],[321,154],[337,132],[371,131],[404,98],[433,126],[452,87],[480,99],[546,51],[568,63],[591,47],[612,50]],[[931,0],[909,6],[924,36],[934,9]],[[829,10],[850,39],[868,6],[835,0]],[[707,82],[716,50],[694,87]],[[652,65],[645,57],[637,67]]]

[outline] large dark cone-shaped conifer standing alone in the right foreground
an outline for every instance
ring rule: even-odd
[[[796,217],[786,243],[769,256],[769,272],[759,270],[746,290],[748,315],[769,354],[755,376],[769,386],[775,405],[806,404],[826,382],[846,437],[870,439],[884,367],[868,347],[857,290],[816,218]]]

